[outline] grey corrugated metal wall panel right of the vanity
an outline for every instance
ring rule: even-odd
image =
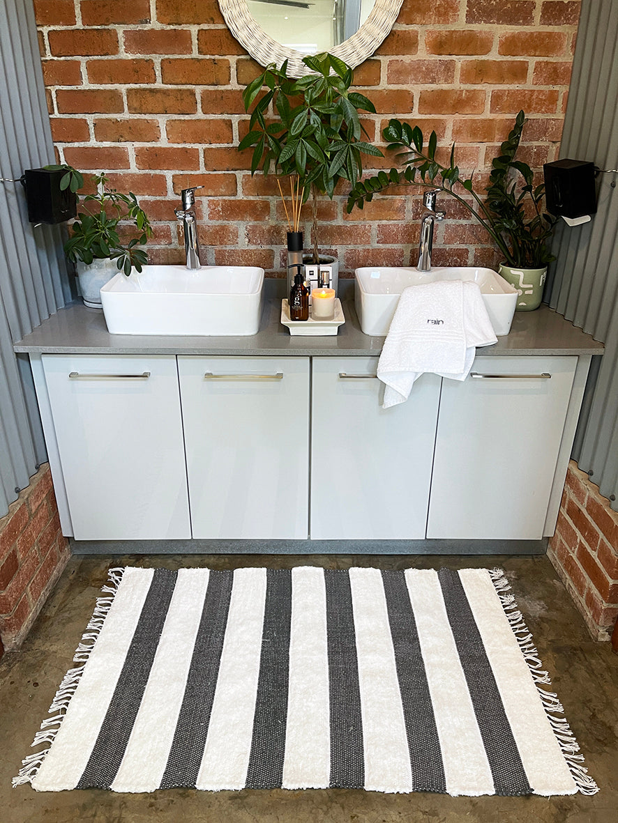
[[[618,7],[583,0],[560,156],[618,167]],[[599,174],[597,215],[555,234],[550,305],[605,342],[588,380],[574,458],[618,510],[618,174]]]

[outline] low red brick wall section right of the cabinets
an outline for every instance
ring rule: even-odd
[[[618,617],[618,513],[573,460],[547,556],[592,636],[610,639]]]

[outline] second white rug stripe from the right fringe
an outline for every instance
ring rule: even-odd
[[[440,738],[447,792],[494,794],[494,779],[448,623],[438,573],[405,572]]]

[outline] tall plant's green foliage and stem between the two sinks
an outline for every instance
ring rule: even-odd
[[[271,63],[246,86],[242,99],[246,111],[253,110],[238,150],[253,148],[252,175],[257,170],[277,175],[290,232],[298,231],[300,209],[311,197],[312,262],[320,263],[319,196],[332,199],[342,179],[354,186],[363,176],[362,155],[381,157],[382,151],[362,139],[367,133],[358,112],[376,109],[367,97],[349,91],[352,69],[329,53],[309,55],[302,63],[314,73],[288,77],[286,60],[280,68]],[[283,178],[289,180],[282,184]]]

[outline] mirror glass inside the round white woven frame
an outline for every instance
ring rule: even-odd
[[[267,35],[301,54],[331,51],[363,26],[375,0],[246,0]]]

